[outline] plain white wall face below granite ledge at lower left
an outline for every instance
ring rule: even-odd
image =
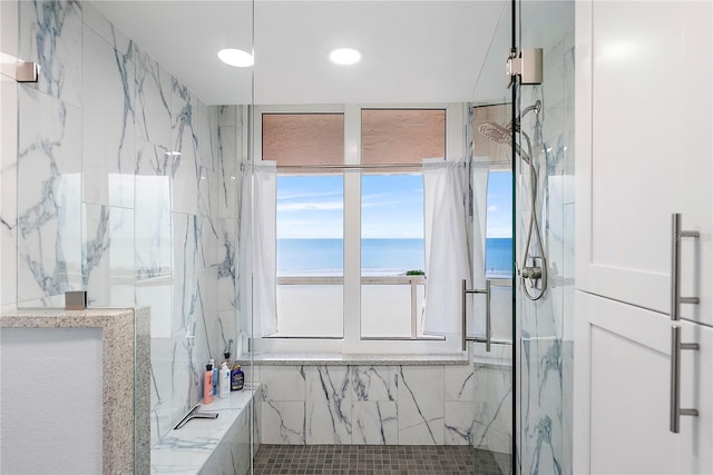
[[[1,473],[101,473],[101,346],[98,328],[2,329]]]

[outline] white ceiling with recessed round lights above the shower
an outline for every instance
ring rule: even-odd
[[[209,105],[459,102],[505,91],[506,0],[95,4]],[[222,48],[251,50],[253,16],[254,100],[251,68],[216,57]],[[362,61],[332,65],[328,52],[341,46],[360,49]]]

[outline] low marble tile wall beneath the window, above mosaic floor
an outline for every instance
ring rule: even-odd
[[[264,444],[473,445],[509,453],[507,365],[261,366]]]

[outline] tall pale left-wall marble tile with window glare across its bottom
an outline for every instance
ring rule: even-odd
[[[84,29],[84,201],[134,207],[134,58]]]

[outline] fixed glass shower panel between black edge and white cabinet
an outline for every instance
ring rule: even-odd
[[[575,2],[515,8],[517,51],[543,51],[543,80],[514,96],[516,472],[573,473]]]

